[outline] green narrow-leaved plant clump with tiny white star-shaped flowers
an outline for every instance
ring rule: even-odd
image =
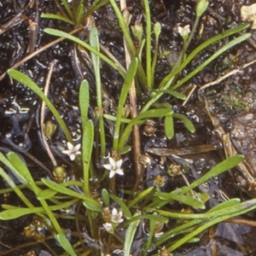
[[[64,10],[60,7],[61,15],[44,15],[44,17],[66,21],[72,25],[81,25],[84,15],[88,15],[88,13],[84,14],[84,1],[79,1],[77,9],[75,6],[73,6],[73,9],[70,9],[66,0],[61,1],[65,6],[67,14],[64,15]],[[33,225],[34,232],[32,233],[32,237],[37,241],[44,241],[46,230],[48,230],[49,236],[55,238],[66,251],[64,255],[100,255],[100,253],[108,254],[123,250],[124,255],[128,256],[131,251],[137,249],[135,241],[138,240],[140,241],[141,247],[140,255],[147,255],[148,251],[154,251],[154,247],[165,247],[165,250],[170,253],[177,249],[177,247],[182,246],[185,242],[192,241],[201,231],[206,230],[213,224],[256,208],[255,199],[243,202],[239,199],[231,199],[206,211],[206,201],[209,199],[209,195],[202,192],[198,193],[195,190],[201,183],[205,183],[208,179],[235,167],[241,162],[243,157],[241,155],[230,157],[217,166],[214,166],[211,171],[197,179],[194,183],[174,189],[170,193],[165,193],[161,190],[166,182],[165,176],[154,177],[154,183],[144,188],[142,182],[143,172],[138,172],[135,175],[136,182],[131,191],[125,189],[119,189],[117,191],[115,174],[119,174],[122,177],[127,176],[125,167],[122,165],[125,162],[125,154],[131,150],[131,145],[127,145],[127,142],[131,137],[131,131],[135,125],[142,125],[148,119],[164,118],[166,136],[172,138],[174,135],[173,118],[176,118],[182,119],[189,131],[195,131],[195,127],[189,119],[181,114],[174,113],[172,105],[170,103],[160,102],[160,97],[170,94],[177,99],[185,99],[186,96],[177,92],[177,88],[195,76],[196,73],[199,73],[204,67],[207,67],[211,61],[224,53],[224,51],[249,38],[250,34],[244,33],[232,39],[206,61],[202,62],[199,67],[196,67],[191,73],[187,74],[186,77],[177,80],[179,73],[189,65],[197,54],[206,49],[207,46],[242,32],[248,25],[242,24],[236,26],[214,38],[210,38],[186,56],[186,49],[191,38],[194,36],[198,20],[207,9],[207,1],[200,0],[196,7],[195,25],[191,32],[189,33],[188,27],[180,27],[179,29],[184,44],[177,63],[174,64],[172,70],[157,85],[154,84],[154,72],[159,48],[160,24],[154,24],[155,50],[154,56],[151,58],[152,38],[148,1],[143,1],[147,20],[146,38],[143,38],[142,26],[139,25],[133,28],[133,34],[137,36],[139,42],[138,49],[135,48],[131,39],[131,32],[128,29],[129,23],[125,20],[118,5],[114,0],[109,0],[109,2],[119,20],[119,26],[124,33],[125,44],[127,44],[129,52],[131,52],[131,62],[127,65],[127,70],[114,61],[112,55],[104,55],[100,52],[96,27],[92,27],[90,30],[89,44],[84,43],[83,40],[67,32],[61,32],[52,28],[44,30],[44,32],[55,37],[67,38],[90,51],[96,78],[95,116],[98,123],[93,122],[92,119],[95,116],[92,116],[89,111],[90,85],[88,81],[82,80],[79,87],[79,109],[83,131],[81,147],[80,144],[74,146],[73,137],[70,131],[68,131],[67,125],[38,85],[24,73],[20,73],[14,69],[9,70],[9,76],[21,84],[25,84],[36,93],[54,115],[56,122],[66,137],[67,145],[65,146],[67,146],[67,149],[62,148],[60,151],[67,154],[70,160],[75,163],[75,166],[73,168],[73,175],[70,176],[69,180],[66,179],[67,173],[65,170],[61,169],[55,172],[55,176],[57,175],[58,177],[57,179],[51,180],[45,177],[40,182],[36,182],[26,163],[20,159],[18,154],[14,152],[7,154],[0,153],[0,161],[3,163],[3,166],[9,168],[9,171],[17,177],[20,183],[14,183],[11,177],[0,167],[0,175],[9,184],[9,189],[2,189],[0,193],[15,192],[24,203],[24,207],[2,205],[4,211],[0,212],[0,219],[7,220],[19,218],[27,214],[35,214],[37,218],[40,218],[42,225],[40,227]],[[74,3],[78,3],[78,1],[74,1]],[[100,4],[98,2],[96,3]],[[107,3],[107,1],[102,1],[102,3]],[[142,53],[145,44],[146,68],[144,70]],[[118,70],[120,76],[124,79],[115,115],[103,113],[102,110],[100,59]],[[129,116],[124,114],[124,105],[128,101],[128,95],[135,81],[141,90],[149,93],[150,97],[137,115],[129,118]],[[108,156],[106,156],[106,132],[104,126],[106,120],[114,124],[111,138],[112,148],[108,148],[111,154]],[[98,144],[101,147],[101,154],[97,154],[97,163],[92,160],[92,154],[99,147],[98,144],[95,145],[96,125],[99,128],[100,143]],[[144,165],[148,165],[147,160],[144,162]],[[107,171],[104,171],[104,169],[107,169]],[[166,173],[166,176],[180,175],[182,172],[179,169],[179,172],[176,172],[176,174],[175,172],[170,173]],[[37,207],[23,193],[22,189],[25,188],[32,190],[38,202]],[[185,213],[182,210],[180,212],[172,210],[172,207],[168,207],[168,205],[173,201],[182,204],[190,212]],[[38,205],[41,206],[38,207]],[[195,213],[198,209],[204,212]],[[63,230],[61,227],[62,219],[73,219],[74,222],[82,223],[82,228],[79,227],[78,232],[71,231],[69,233],[72,237],[79,236],[79,241],[73,243],[69,239],[69,236],[67,236],[68,231]],[[182,222],[178,222],[177,220],[182,220]],[[166,224],[169,223],[174,223],[175,225],[172,225],[172,228],[168,230],[166,229]],[[143,230],[143,238],[137,237],[137,230],[139,229]],[[52,253],[55,254],[54,251]]]

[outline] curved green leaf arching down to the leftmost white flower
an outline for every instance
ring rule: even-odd
[[[29,89],[31,89],[34,93],[36,93],[45,102],[46,106],[49,108],[51,113],[53,113],[53,115],[55,116],[55,119],[57,120],[57,122],[61,126],[62,131],[65,133],[65,136],[67,137],[67,140],[70,143],[73,143],[73,139],[70,135],[70,132],[67,129],[67,125],[65,124],[63,119],[61,119],[61,116],[58,113],[57,109],[49,101],[49,98],[44,95],[44,92],[38,87],[38,85],[35,84],[32,81],[32,79],[28,78],[26,76],[26,74],[20,73],[19,71],[15,70],[15,69],[9,69],[7,73],[9,73],[9,76],[12,79],[15,79],[18,82],[20,82],[20,84],[25,84]]]

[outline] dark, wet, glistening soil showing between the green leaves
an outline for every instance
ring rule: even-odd
[[[25,3],[26,2],[26,3]],[[29,2],[33,4],[28,6]],[[84,1],[86,2],[86,1]],[[90,6],[90,2],[86,5]],[[161,52],[167,52],[165,57],[162,55],[158,62],[155,71],[155,87],[158,86],[160,80],[170,71],[173,61],[177,58],[177,54],[182,49],[182,38],[177,33],[177,26],[193,25],[195,20],[195,2],[194,0],[168,1],[168,0],[152,0],[150,8],[152,12],[152,21],[159,21],[162,27],[160,35]],[[189,46],[188,52],[208,38],[212,38],[218,33],[241,24],[240,9],[242,5],[249,5],[253,1],[247,0],[229,0],[229,1],[210,1],[206,15],[203,16],[200,22],[195,38]],[[140,15],[143,14],[143,8],[137,0],[127,0],[127,6],[132,15],[131,24],[133,24]],[[45,27],[54,27],[60,30],[70,32],[73,26],[67,25],[64,22],[56,20],[48,20],[40,18],[43,13],[56,13],[57,8],[54,1],[1,1],[0,3],[0,75],[5,73],[10,67],[13,67],[18,61],[22,60],[36,49],[41,48],[45,44],[53,41],[55,38],[43,32]],[[19,15],[21,14],[21,15]],[[117,20],[113,15],[113,11],[109,4],[96,11],[93,15],[96,21],[96,27],[99,31],[101,43],[109,49],[113,55],[125,66],[124,48],[122,33],[118,27]],[[143,19],[142,19],[143,20]],[[32,38],[31,22],[38,23],[38,31]],[[142,21],[144,25],[144,20]],[[250,30],[248,30],[250,31]],[[253,31],[252,31],[253,32]],[[80,38],[88,41],[88,31],[85,29],[83,33],[78,34]],[[218,134],[214,133],[214,127],[204,110],[202,102],[199,101],[197,90],[203,84],[218,79],[224,73],[230,72],[233,68],[240,67],[248,61],[255,58],[255,38],[253,32],[252,39],[243,44],[239,44],[233,49],[230,49],[224,55],[220,56],[211,65],[205,68],[201,73],[197,74],[189,83],[196,84],[196,90],[190,97],[189,102],[185,106],[181,106],[181,102],[174,101],[171,96],[166,96],[161,99],[162,102],[171,102],[176,113],[183,113],[195,125],[196,131],[194,134],[189,133],[181,122],[176,122],[175,137],[166,141],[163,139],[163,120],[156,119],[156,138],[145,137],[142,127],[142,149],[146,153],[147,148],[186,148],[191,146],[210,144],[217,146],[218,150],[207,153],[187,154],[182,159],[168,156],[166,158],[165,167],[172,163],[184,164],[187,159],[193,160],[189,164],[189,172],[186,174],[191,182],[200,177],[203,173],[210,170],[219,161],[224,160],[224,150],[219,140]],[[136,43],[136,40],[135,40]],[[181,77],[192,71],[208,56],[212,55],[226,41],[221,41],[218,44],[213,44],[206,50],[202,51],[196,59],[183,70]],[[81,77],[74,67],[74,44],[61,41],[53,47],[44,50],[42,53],[34,56],[31,60],[26,61],[18,69],[26,73],[40,87],[44,88],[45,79],[47,77],[49,63],[55,62],[54,72],[51,78],[49,88],[49,99],[61,113],[62,118],[67,123],[68,129],[73,135],[75,142],[80,141],[81,136],[81,120],[79,118],[79,84]],[[237,119],[247,113],[255,113],[255,83],[256,77],[253,72],[255,65],[247,67],[242,73],[236,74],[223,82],[209,87],[204,91],[204,98],[210,102],[212,113],[221,120],[225,131],[234,130],[234,122],[237,124]],[[94,108],[96,106],[95,94],[95,79],[92,69],[88,63],[84,63],[83,77],[90,83],[90,117],[94,119]],[[113,102],[119,99],[120,86],[122,79],[119,74],[102,63],[102,84],[107,91],[108,96]],[[188,84],[185,84],[185,86]],[[183,88],[185,88],[185,86]],[[182,91],[183,89],[181,89]],[[147,92],[143,91],[139,95],[138,108],[143,106],[147,99]],[[40,180],[41,177],[49,177],[53,169],[49,155],[46,153],[44,143],[42,143],[42,134],[39,129],[41,101],[31,90],[26,89],[22,84],[16,83],[9,79],[8,75],[3,75],[0,81],[0,149],[3,153],[10,150],[20,154],[26,161],[32,176],[35,180]],[[114,109],[108,109],[109,113],[113,113]],[[51,113],[45,113],[45,120],[55,122]],[[108,124],[107,124],[108,125]],[[247,126],[247,123],[239,123],[239,129]],[[109,127],[109,130],[110,127]],[[254,130],[253,130],[254,131]],[[253,131],[247,131],[243,142],[255,139]],[[107,135],[107,148],[110,152],[112,135],[109,131]],[[51,140],[51,150],[53,151],[56,160],[59,164],[67,166],[68,170],[72,166],[68,166],[67,158],[59,153],[58,147],[65,147],[65,137],[60,130],[57,130]],[[249,149],[254,148],[254,143],[251,143],[248,150],[244,151],[239,148],[241,145],[240,138],[236,137],[236,150],[239,153],[247,154]],[[31,155],[41,162],[38,165]],[[133,168],[132,155],[127,157],[130,160],[126,161],[124,168]],[[152,166],[147,169],[145,179],[147,184],[152,183],[153,177],[158,174],[163,174],[160,168],[160,157],[156,154],[149,154],[152,160]],[[255,167],[254,167],[255,168]],[[8,170],[5,168],[6,172]],[[233,170],[238,173],[237,170]],[[127,171],[128,172],[128,171]],[[237,176],[237,175],[236,175]],[[226,173],[221,177],[210,180],[207,186],[207,193],[211,195],[207,207],[212,207],[223,201],[220,191],[231,197],[240,197],[241,200],[247,199],[250,195],[236,189],[234,183],[237,183],[236,176],[231,173]],[[122,186],[131,185],[134,183],[135,177],[131,173],[131,177],[122,180]],[[183,180],[179,178],[169,178],[164,191],[169,192],[172,189],[181,186]],[[6,184],[0,178],[0,189],[7,189]],[[26,191],[34,204],[37,204],[30,191]],[[14,193],[2,194],[0,204],[9,204],[15,206],[23,206],[18,197]],[[2,208],[0,207],[2,210]],[[28,254],[34,252],[34,255],[53,255],[49,247],[56,253],[63,253],[55,239],[50,236],[48,231],[45,232],[45,241],[37,241],[35,237],[27,238],[24,235],[24,229],[32,223],[32,216],[18,218],[11,221],[0,220],[0,255],[33,255]],[[255,218],[255,213],[251,212],[246,216],[250,220]],[[237,225],[237,224],[236,224]],[[255,224],[254,224],[255,225]],[[83,230],[82,225],[79,230],[72,220],[63,221],[63,228],[70,229],[73,233],[79,233]],[[253,243],[253,235],[255,229],[253,226],[240,225],[240,228],[234,227],[214,227],[207,230],[200,237],[200,242],[186,245],[178,250],[174,255],[255,255],[256,248]],[[166,227],[168,228],[168,227]],[[224,230],[230,230],[231,235],[224,235]],[[234,238],[234,234],[239,236],[239,239]],[[79,241],[77,236],[72,237],[72,242]],[[215,253],[214,252],[215,248]],[[137,248],[134,248],[136,251]],[[49,254],[47,254],[47,252]],[[154,251],[156,253],[156,251]],[[180,253],[180,254],[179,254]],[[82,254],[81,254],[82,255]],[[116,254],[115,254],[116,255]],[[134,253],[139,255],[139,253]],[[149,255],[149,254],[148,254]],[[152,254],[153,255],[153,254]]]

